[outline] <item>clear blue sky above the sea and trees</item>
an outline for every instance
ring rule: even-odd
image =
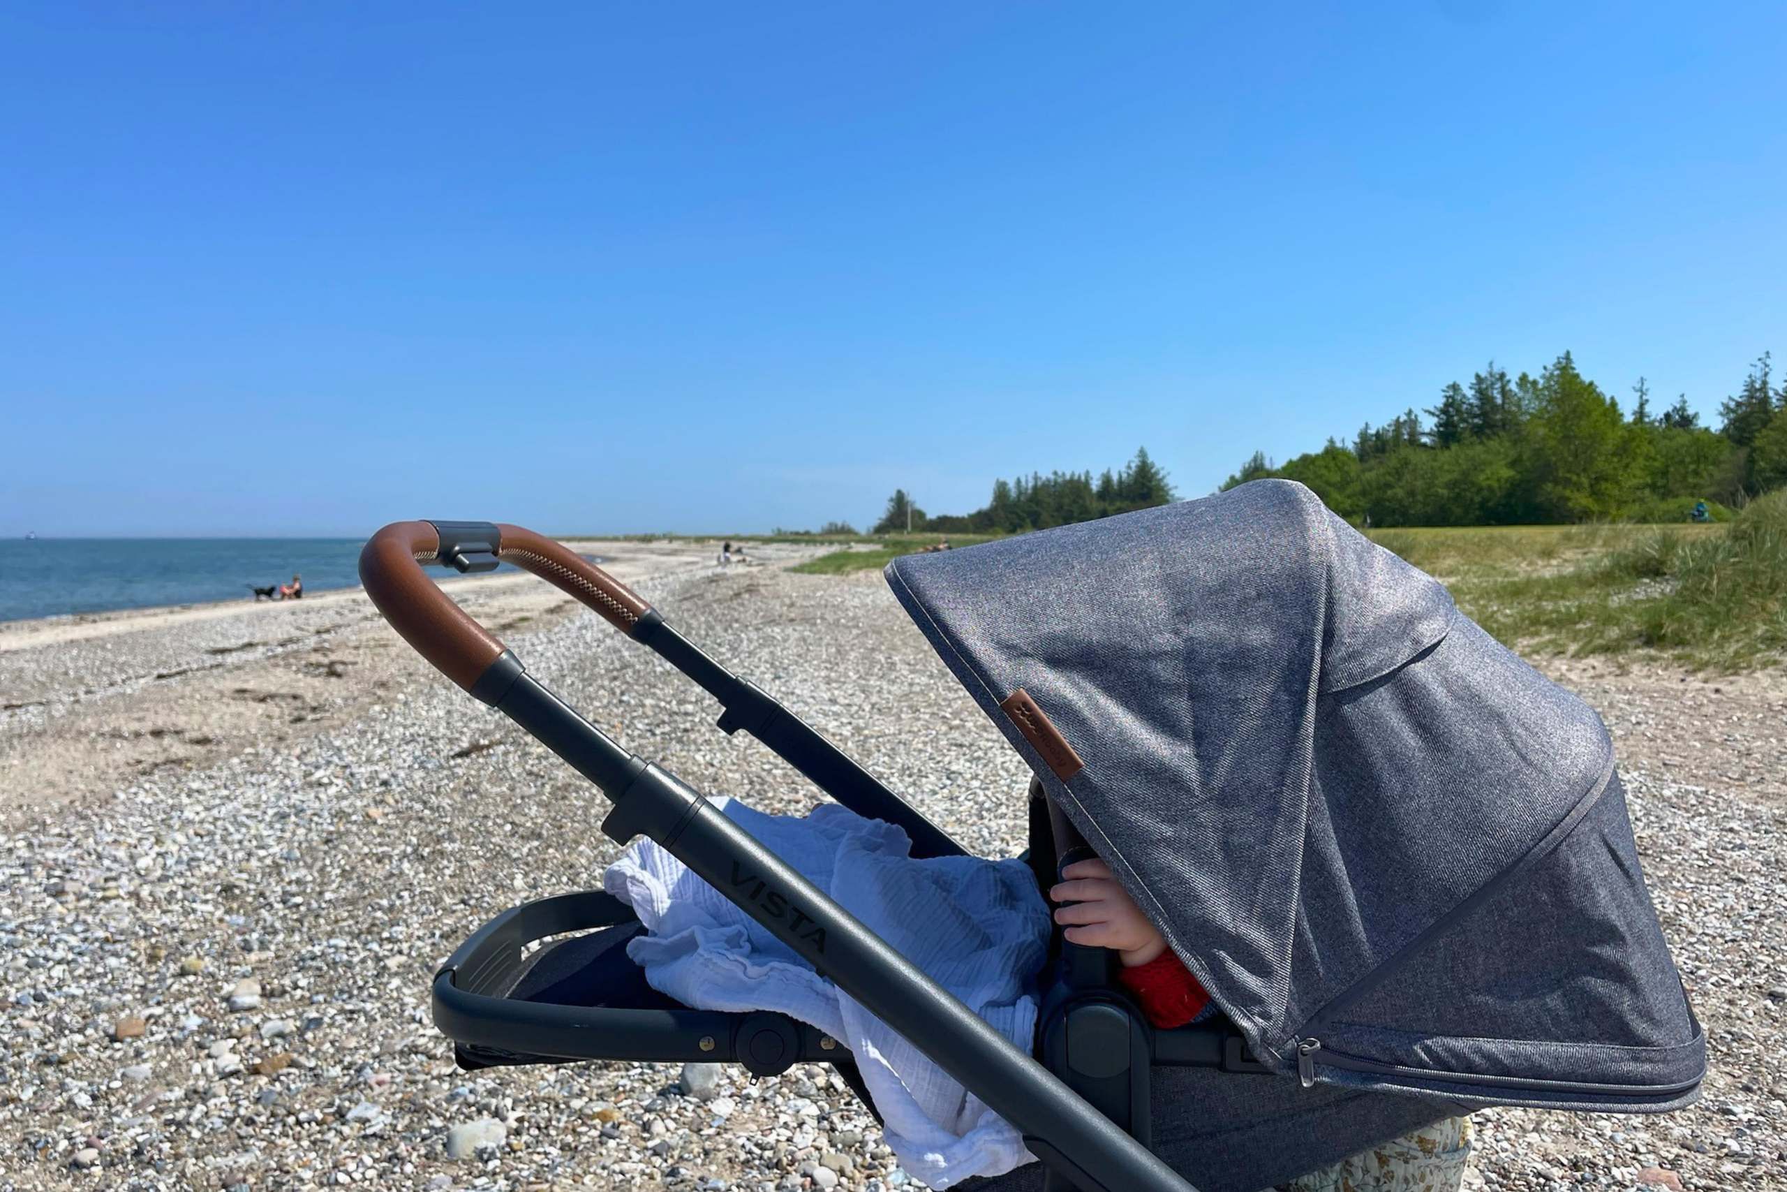
[[[1778,4],[0,7],[0,533],[1181,493],[1787,352]]]

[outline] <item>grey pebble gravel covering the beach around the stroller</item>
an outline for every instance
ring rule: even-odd
[[[879,577],[734,568],[638,586],[963,844],[1020,847],[1022,763]],[[506,640],[697,788],[810,806],[788,767],[717,733],[699,688],[593,615]],[[38,708],[11,713],[38,717],[13,726],[27,743],[66,711],[57,690],[95,686],[70,674],[55,688],[46,665],[0,656],[0,690],[36,676]],[[663,1065],[457,1072],[429,1024],[434,967],[506,906],[595,885],[615,847],[602,801],[543,747],[422,667],[375,670],[277,742],[16,817],[0,844],[0,1188],[908,1183],[822,1067],[756,1083]],[[1646,683],[1580,686],[1626,749],[1651,886],[1712,1044],[1707,1094],[1653,1119],[1483,1113],[1483,1187],[1628,1188],[1665,1167],[1691,1188],[1787,1188],[1780,720],[1696,713],[1687,731],[1735,735],[1746,760],[1742,781],[1707,781],[1726,761],[1696,768],[1701,751],[1680,749],[1653,690],[1664,681]]]

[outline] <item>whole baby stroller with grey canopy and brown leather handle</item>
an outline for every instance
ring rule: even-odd
[[[915,856],[960,847],[556,541],[399,522],[366,543],[361,579],[391,625],[602,788],[606,835],[656,840],[1022,1131],[1040,1163],[979,1190],[1246,1192],[1487,1104],[1698,1095],[1705,1038],[1599,720],[1297,484],[888,567],[1036,776],[1038,883],[1090,847],[1224,1015],[1153,1029],[1106,953],[1056,938],[1031,1053],[559,702],[422,572],[499,559],[690,676],[722,731],[904,827]],[[624,951],[638,929],[602,894],[504,911],[436,976],[434,1022],[465,1067],[817,1062],[854,1078],[813,1028],[650,990]],[[565,938],[529,951],[547,936]]]

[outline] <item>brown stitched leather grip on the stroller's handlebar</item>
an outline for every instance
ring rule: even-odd
[[[456,522],[441,522],[454,527]],[[490,527],[486,527],[490,529]],[[633,634],[650,611],[631,588],[563,545],[520,525],[495,525],[497,558],[540,575]],[[470,692],[504,645],[452,602],[422,570],[440,558],[431,522],[391,522],[359,552],[359,581],[391,627],[443,676]],[[493,567],[495,563],[491,563]]]

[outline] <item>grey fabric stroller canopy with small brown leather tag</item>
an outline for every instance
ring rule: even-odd
[[[1301,484],[906,556],[888,583],[1276,1070],[1694,1099],[1705,1038],[1607,729]]]

